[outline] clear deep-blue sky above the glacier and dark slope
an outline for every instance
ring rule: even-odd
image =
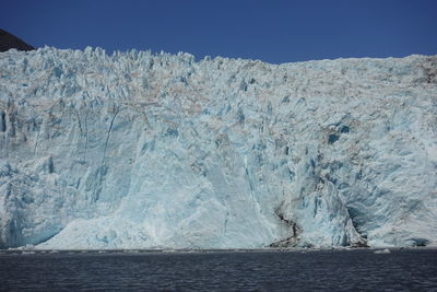
[[[279,63],[437,54],[437,0],[2,0],[33,46],[188,51]]]

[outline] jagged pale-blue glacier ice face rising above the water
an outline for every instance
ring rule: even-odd
[[[437,242],[437,57],[0,54],[0,246]]]

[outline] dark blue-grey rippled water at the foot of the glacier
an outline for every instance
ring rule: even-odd
[[[437,250],[3,252],[0,290],[24,289],[437,291]]]

